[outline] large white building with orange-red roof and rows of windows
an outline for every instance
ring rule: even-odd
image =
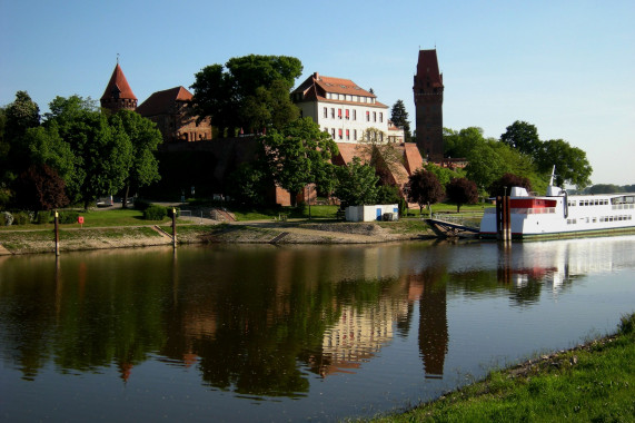
[[[315,72],[291,92],[291,100],[302,117],[312,118],[336,142],[358,142],[368,128],[377,128],[388,137],[388,106],[350,79]],[[390,132],[394,136],[394,130]]]

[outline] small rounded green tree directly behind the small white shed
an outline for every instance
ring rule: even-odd
[[[337,168],[337,180],[335,196],[339,198],[343,207],[377,201],[379,177],[375,175],[375,169],[363,164],[359,157],[354,157],[347,166]]]

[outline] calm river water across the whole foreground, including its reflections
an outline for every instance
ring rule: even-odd
[[[635,236],[0,257],[2,421],[334,421],[614,332]]]

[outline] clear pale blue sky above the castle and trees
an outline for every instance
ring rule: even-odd
[[[498,139],[516,120],[586,151],[593,184],[635,184],[635,1],[0,0],[0,106],[26,90],[99,99],[119,63],[139,104],[208,65],[292,56],[401,99],[418,50],[444,76],[444,127]]]

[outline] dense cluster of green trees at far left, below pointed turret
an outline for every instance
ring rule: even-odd
[[[150,120],[108,114],[79,96],[56,97],[49,112],[26,91],[0,109],[0,207],[50,210],[159,180]],[[126,205],[126,200],[123,201]]]

